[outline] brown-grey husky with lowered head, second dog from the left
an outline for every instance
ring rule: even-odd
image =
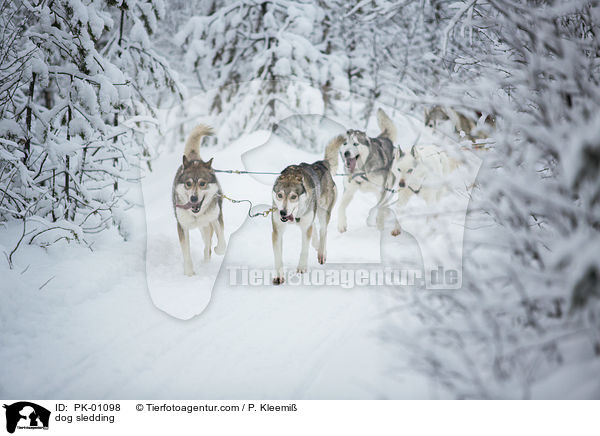
[[[308,241],[317,250],[317,260],[325,263],[327,257],[327,225],[335,204],[337,188],[333,175],[338,166],[338,150],[345,141],[344,136],[333,138],[325,148],[325,159],[312,164],[301,163],[286,167],[273,185],[273,255],[275,278],[273,284],[284,282],[283,233],[290,224],[296,224],[302,232],[302,249],[297,272],[306,272]],[[317,236],[315,218],[319,221]],[[313,231],[314,230],[314,231]]]

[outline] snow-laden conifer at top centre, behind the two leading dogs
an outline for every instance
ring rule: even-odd
[[[213,1],[202,12],[175,43],[202,90],[212,91],[210,113],[219,116],[222,139],[323,111],[323,97],[310,88],[320,90],[342,71],[324,43],[320,4]]]

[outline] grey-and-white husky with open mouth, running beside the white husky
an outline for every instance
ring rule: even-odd
[[[340,154],[348,176],[344,178],[344,194],[338,210],[338,231],[347,230],[346,208],[357,190],[381,194],[393,160],[396,127],[381,109],[377,111],[381,133],[369,138],[365,132],[348,130]]]

